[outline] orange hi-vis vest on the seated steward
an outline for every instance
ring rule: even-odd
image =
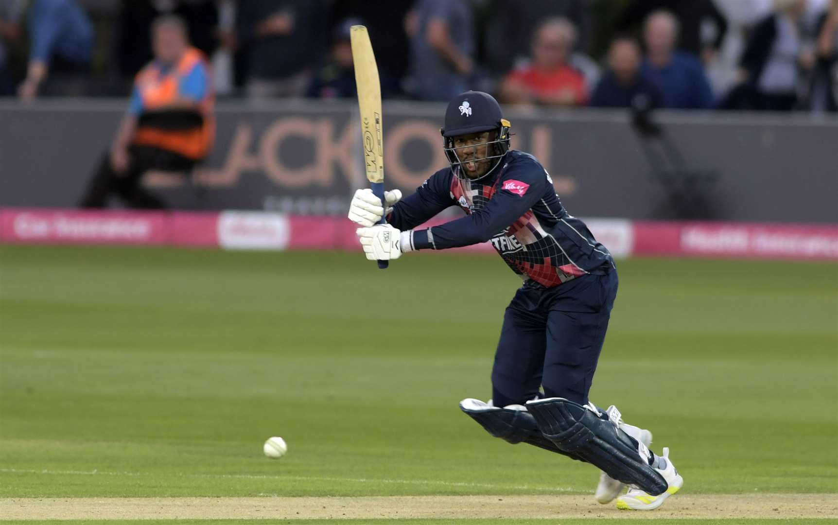
[[[176,65],[167,68],[153,61],[143,68],[134,82],[139,104],[135,98],[132,108],[142,110],[132,143],[203,159],[215,138],[215,97],[206,86],[206,71],[204,56],[194,48]]]

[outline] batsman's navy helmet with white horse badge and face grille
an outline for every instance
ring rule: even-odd
[[[486,156],[473,160],[495,159],[494,166],[478,179],[489,176],[500,164],[500,159],[510,149],[510,127],[510,121],[501,115],[498,101],[494,100],[494,96],[489,95],[489,93],[466,91],[455,96],[452,101],[448,102],[448,107],[445,110],[445,127],[441,127],[439,130],[439,133],[442,133],[442,147],[445,149],[445,156],[451,164],[454,174],[461,179],[467,178],[463,174],[458,150],[486,145]],[[489,135],[488,142],[454,148],[454,137],[487,131],[496,132],[494,137]]]

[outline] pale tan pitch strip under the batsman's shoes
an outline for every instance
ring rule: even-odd
[[[0,516],[33,519],[838,518],[835,494],[679,494],[651,512],[593,496],[3,498]]]

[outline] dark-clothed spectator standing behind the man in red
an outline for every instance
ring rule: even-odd
[[[532,35],[546,18],[570,20],[577,29],[573,50],[587,49],[592,29],[587,0],[503,0],[495,3],[486,29],[484,47],[489,68],[503,74],[524,65],[532,50]]]

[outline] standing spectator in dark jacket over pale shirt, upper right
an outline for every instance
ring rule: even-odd
[[[804,49],[799,28],[806,0],[774,0],[774,11],[753,29],[739,60],[741,84],[723,107],[789,111],[797,102],[799,68],[809,69],[815,56]]]

